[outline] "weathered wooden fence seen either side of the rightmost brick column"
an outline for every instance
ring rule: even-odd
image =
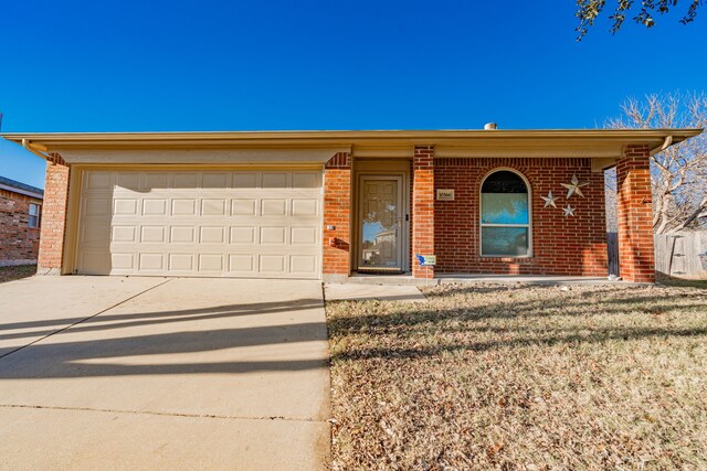
[[[658,278],[707,279],[707,231],[656,234],[655,271]],[[606,233],[609,275],[619,271],[619,235]]]

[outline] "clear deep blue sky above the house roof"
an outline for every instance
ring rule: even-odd
[[[611,0],[610,0],[611,3]],[[574,1],[2,3],[2,131],[593,128],[704,89],[707,11],[574,41]],[[44,163],[0,142],[0,174]]]

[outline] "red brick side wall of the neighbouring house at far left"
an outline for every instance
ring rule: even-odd
[[[40,228],[29,225],[30,203],[42,201],[0,190],[0,266],[36,260]]]

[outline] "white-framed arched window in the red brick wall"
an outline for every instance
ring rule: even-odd
[[[518,173],[498,170],[482,184],[482,256],[530,255],[528,185]]]

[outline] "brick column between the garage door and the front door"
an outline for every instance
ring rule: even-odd
[[[351,154],[339,152],[324,165],[325,281],[342,281],[351,274]]]

